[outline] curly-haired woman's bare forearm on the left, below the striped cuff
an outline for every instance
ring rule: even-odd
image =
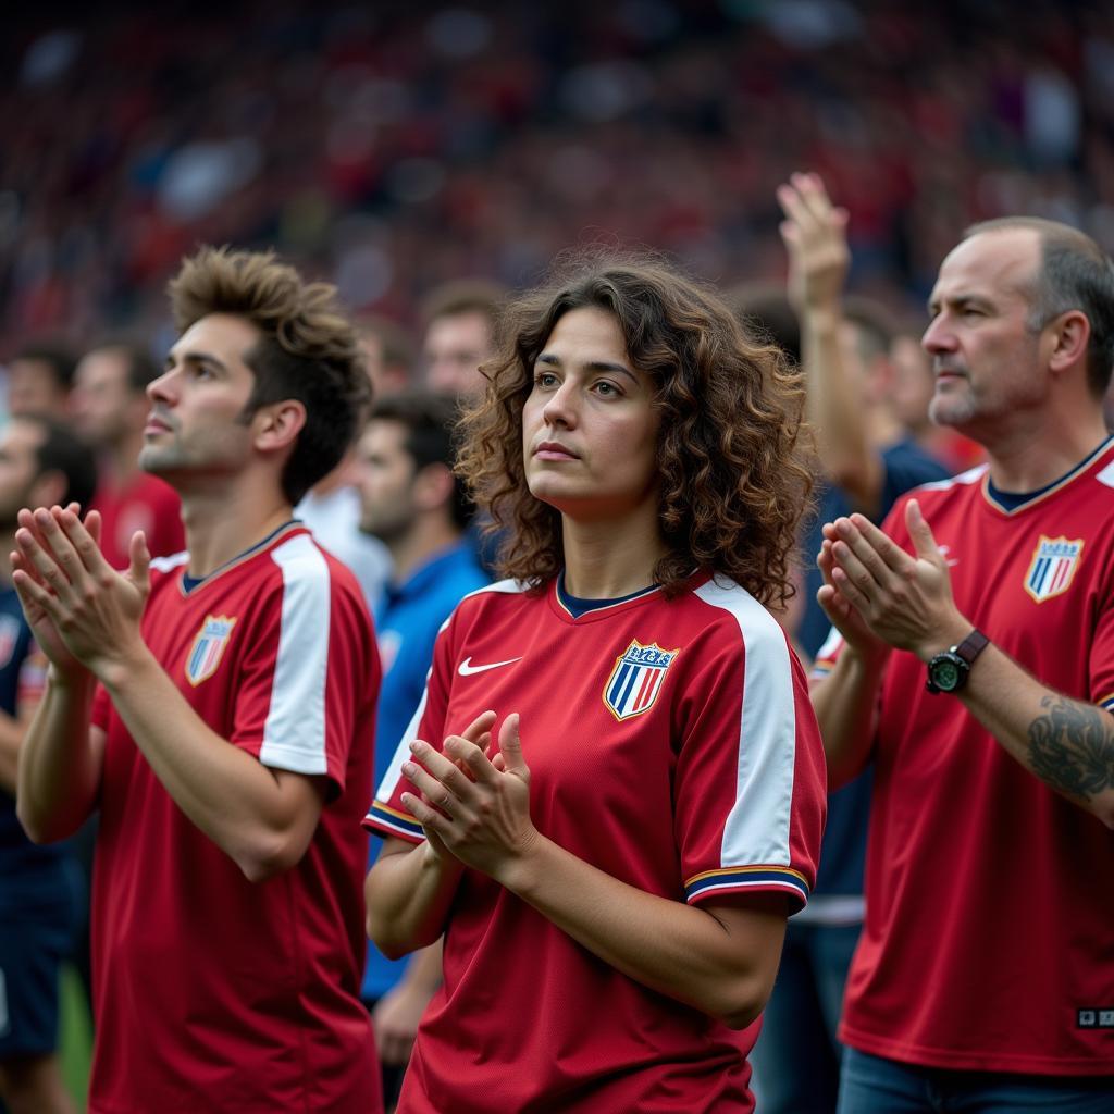
[[[463,868],[429,843],[401,850],[391,841],[364,882],[368,937],[391,959],[438,940]]]

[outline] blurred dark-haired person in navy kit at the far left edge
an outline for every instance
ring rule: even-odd
[[[70,1114],[58,1047],[61,961],[76,942],[84,900],[65,846],[32,843],[16,817],[16,765],[46,663],[11,585],[22,507],[86,505],[89,450],[51,419],[14,418],[0,431],[0,1107]]]

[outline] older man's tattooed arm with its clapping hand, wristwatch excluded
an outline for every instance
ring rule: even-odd
[[[947,561],[917,501],[906,508],[917,556],[861,515],[831,530],[832,582],[866,624],[922,662],[958,645],[974,628],[951,597]],[[1114,715],[1058,693],[994,645],[957,695],[998,743],[1034,776],[1114,828]]]

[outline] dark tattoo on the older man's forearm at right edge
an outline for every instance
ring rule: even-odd
[[[1114,786],[1114,719],[1094,704],[1045,696],[1029,724],[1029,764],[1053,789],[1089,801]]]

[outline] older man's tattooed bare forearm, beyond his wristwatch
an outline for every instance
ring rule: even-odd
[[[1029,773],[1114,828],[1114,715],[1047,688],[993,643],[962,701]]]

